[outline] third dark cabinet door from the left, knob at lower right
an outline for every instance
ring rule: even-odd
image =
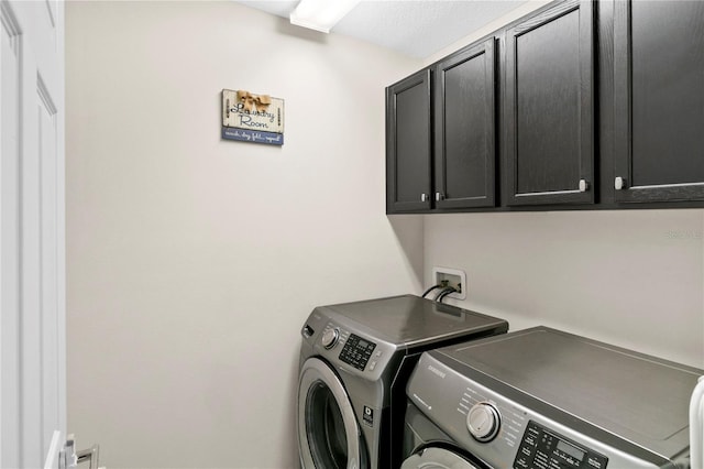
[[[508,205],[594,203],[591,1],[568,1],[506,32]]]

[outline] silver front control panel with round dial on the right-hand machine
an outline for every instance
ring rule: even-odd
[[[499,382],[480,383],[479,373],[448,360],[440,352],[424,352],[406,388],[415,408],[450,437],[453,445],[482,459],[490,467],[510,469],[656,469],[682,467],[668,465],[660,456],[649,461],[626,451],[628,441],[602,439],[579,417],[503,388]],[[452,368],[457,366],[462,371]],[[470,375],[471,374],[471,375]],[[501,389],[503,392],[497,392]],[[518,400],[516,400],[516,397]],[[481,440],[470,426],[483,426],[481,414],[473,418],[472,408],[487,403],[496,410],[498,433]],[[566,425],[565,422],[569,424]],[[472,425],[468,425],[468,423]],[[590,433],[584,432],[584,429]],[[438,437],[436,437],[438,438]],[[440,438],[442,439],[442,438]],[[656,459],[657,458],[657,459]]]

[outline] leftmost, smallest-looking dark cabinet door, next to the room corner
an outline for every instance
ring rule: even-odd
[[[430,69],[386,89],[386,211],[430,209]]]

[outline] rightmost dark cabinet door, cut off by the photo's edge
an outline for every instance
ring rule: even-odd
[[[616,2],[614,100],[615,200],[704,200],[704,2]]]

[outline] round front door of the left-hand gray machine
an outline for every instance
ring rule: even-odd
[[[302,469],[366,469],[366,448],[342,381],[309,358],[298,379],[298,449]]]

